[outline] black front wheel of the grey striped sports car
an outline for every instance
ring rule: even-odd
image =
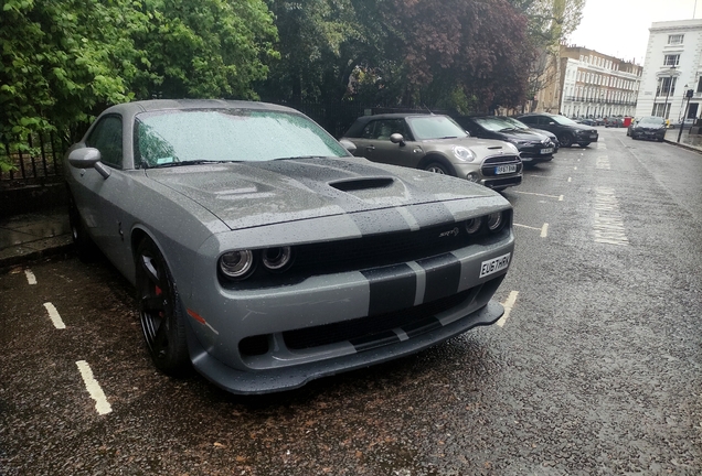
[[[183,306],[163,255],[145,238],[137,248],[137,301],[139,320],[151,360],[170,376],[190,367]]]

